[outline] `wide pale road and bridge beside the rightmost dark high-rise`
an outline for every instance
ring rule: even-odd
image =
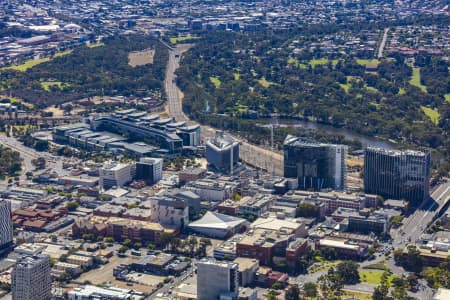
[[[399,230],[394,230],[391,235],[396,248],[403,248],[409,243],[414,243],[420,238],[427,225],[435,215],[450,200],[450,181],[438,186],[411,216],[403,221]]]

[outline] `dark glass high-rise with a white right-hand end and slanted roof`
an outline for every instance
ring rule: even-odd
[[[284,141],[284,177],[297,178],[300,189],[345,189],[344,145],[324,144],[288,135]]]

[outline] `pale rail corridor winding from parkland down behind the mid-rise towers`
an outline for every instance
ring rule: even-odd
[[[169,114],[177,121],[189,121],[189,118],[183,113],[182,95],[175,83],[175,71],[179,67],[180,57],[182,53],[188,50],[190,45],[180,44],[175,49],[169,48],[169,61],[166,68],[166,78],[164,80],[164,88],[167,96],[167,105]],[[202,140],[206,141],[214,137],[216,129],[209,126],[201,126]],[[229,133],[228,133],[229,134]],[[240,140],[234,137],[237,140]],[[282,176],[283,171],[283,155],[275,153],[269,149],[265,149],[246,141],[241,141],[239,157],[242,161],[256,168],[273,172],[275,175]]]

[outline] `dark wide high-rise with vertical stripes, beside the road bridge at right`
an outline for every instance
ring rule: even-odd
[[[430,161],[429,152],[367,148],[364,191],[418,204],[428,197]]]

